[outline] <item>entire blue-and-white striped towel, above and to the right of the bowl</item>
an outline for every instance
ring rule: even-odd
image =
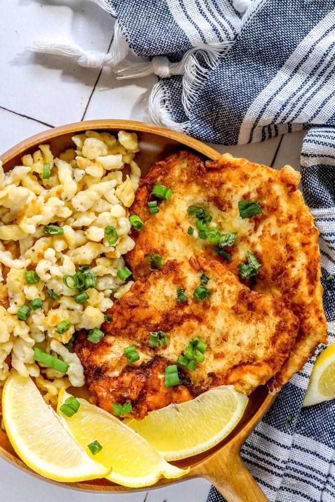
[[[310,129],[302,187],[320,230],[334,342],[335,0],[93,1],[117,18],[108,54],[50,42],[32,49],[115,67],[122,78],[155,73],[151,120],[202,141],[244,144]],[[128,60],[130,50],[142,59]],[[335,401],[301,408],[314,359],[284,387],[242,450],[271,502],[335,500]],[[208,501],[222,500],[212,488]]]

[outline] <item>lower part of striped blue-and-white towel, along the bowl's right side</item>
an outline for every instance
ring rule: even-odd
[[[301,153],[302,189],[320,231],[328,341],[335,342],[335,130],[312,129]],[[322,350],[319,347],[317,353]],[[242,448],[271,502],[334,502],[335,400],[301,408],[315,356],[284,386]],[[207,502],[224,498],[214,487]],[[246,500],[246,502],[248,502]]]

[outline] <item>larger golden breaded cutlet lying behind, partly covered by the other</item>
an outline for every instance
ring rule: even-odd
[[[282,298],[300,321],[296,343],[269,383],[271,390],[279,390],[302,368],[315,347],[326,342],[318,231],[298,190],[299,179],[290,166],[276,171],[229,154],[205,166],[199,157],[181,151],[157,163],[140,180],[131,207],[131,213],[145,223],[141,232],[133,230],[136,245],[127,255],[135,279],[148,278],[148,253],[160,254],[165,261],[188,260],[202,253],[220,261],[236,276],[248,251],[256,257],[261,267],[246,284]],[[156,184],[174,193],[169,200],[158,202],[159,213],[150,214],[148,202],[154,199],[151,192]],[[242,218],[239,201],[258,202],[262,213]],[[211,215],[209,224],[221,234],[237,233],[234,244],[223,247],[230,260],[216,254],[208,240],[198,238],[196,216],[187,212],[191,205]],[[192,235],[187,233],[189,226],[194,229]]]

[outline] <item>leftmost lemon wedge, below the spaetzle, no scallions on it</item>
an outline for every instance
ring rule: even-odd
[[[49,479],[65,482],[109,474],[110,469],[92,460],[64,429],[31,378],[13,371],[2,399],[8,437],[31,469]]]

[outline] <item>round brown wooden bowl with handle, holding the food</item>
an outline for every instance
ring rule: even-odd
[[[193,150],[204,159],[214,160],[220,157],[219,153],[203,143],[168,129],[129,120],[89,120],[50,129],[32,136],[0,156],[0,160],[3,161],[5,171],[9,171],[14,166],[21,164],[22,155],[32,154],[38,145],[43,143],[49,144],[53,154],[58,156],[60,152],[67,148],[73,148],[71,137],[74,134],[79,134],[87,130],[108,131],[111,133],[120,130],[136,132],[141,148],[140,152],[137,154],[136,160],[141,167],[143,175],[148,172],[152,164],[185,147]],[[268,410],[273,400],[274,397],[268,394],[265,387],[259,387],[250,396],[242,420],[226,439],[206,452],[175,462],[175,464],[180,467],[191,466],[190,472],[181,478],[181,481],[186,478],[204,477],[216,486],[228,502],[265,502],[268,500],[242,462],[240,450],[242,444],[264,413]],[[0,455],[20,469],[26,472],[28,471],[40,479],[46,480],[29,469],[29,467],[18,457],[6,433],[2,429],[0,429]],[[161,479],[156,485],[150,488],[174,482],[177,481]],[[65,483],[55,484],[64,486]],[[139,491],[111,483],[106,479],[95,479],[90,482],[66,483],[66,485],[69,488],[91,490],[101,493]],[[147,490],[148,488],[144,489]]]

